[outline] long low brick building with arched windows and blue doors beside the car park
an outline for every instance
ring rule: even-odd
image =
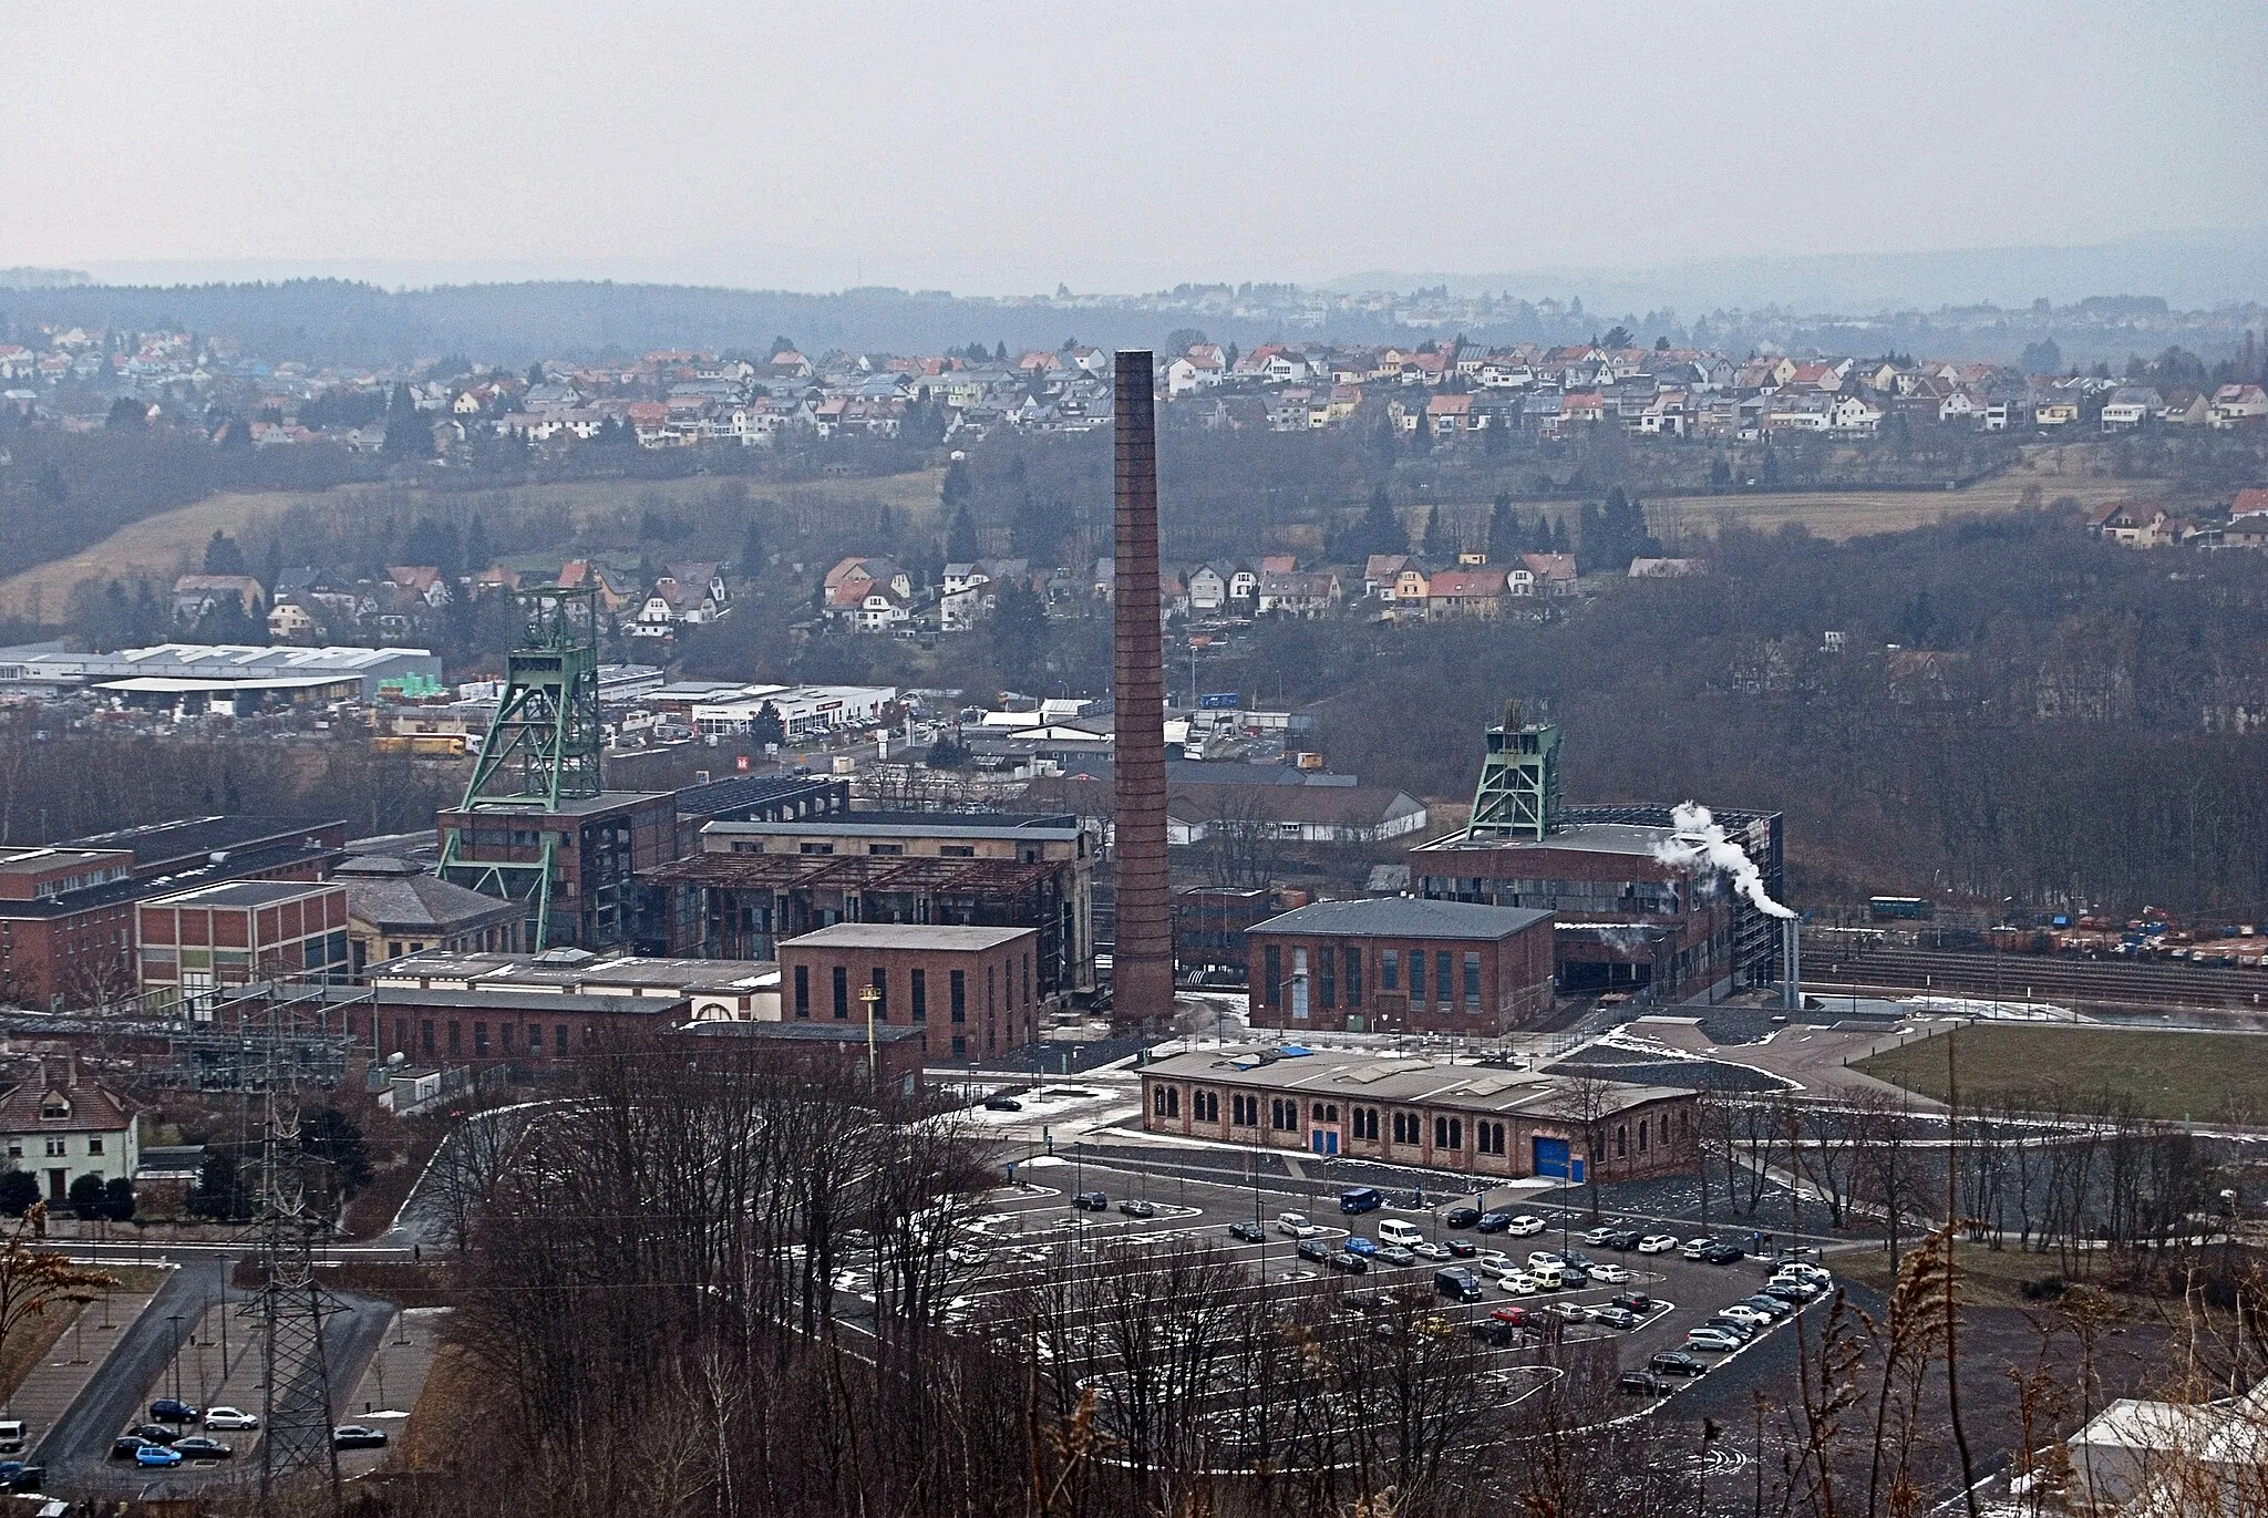
[[[1694,1091],[1429,1060],[1207,1048],[1141,1085],[1148,1132],[1504,1180],[1683,1173],[1701,1137]]]

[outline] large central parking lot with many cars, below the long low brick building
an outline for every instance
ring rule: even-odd
[[[1424,1302],[1438,1318],[1483,1339],[1506,1375],[1533,1361],[1533,1350],[1547,1334],[1567,1341],[1613,1341],[1619,1368],[1633,1371],[1644,1368],[1656,1352],[1678,1350],[1687,1330],[1758,1293],[1771,1275],[1765,1259],[1746,1255],[1726,1264],[1708,1264],[1687,1259],[1678,1250],[1642,1255],[1585,1243],[1583,1232],[1592,1228],[1588,1214],[1526,1203],[1513,1191],[1497,1191],[1486,1200],[1492,1209],[1522,1214],[1526,1218],[1522,1232],[1479,1232],[1463,1216],[1474,1212],[1476,1198],[1472,1196],[1436,1198],[1427,1194],[1429,1205],[1417,1207],[1408,1191],[1386,1191],[1383,1205],[1374,1212],[1343,1214],[1336,1182],[1266,1171],[1243,1180],[1229,1171],[1175,1169],[1159,1173],[1154,1164],[1061,1155],[1021,1164],[1016,1184],[982,1198],[978,1216],[955,1246],[957,1275],[946,1321],[980,1330],[987,1321],[1009,1312],[1018,1293],[1043,1280],[1048,1271],[1059,1268],[1064,1259],[1091,1257],[1105,1253],[1105,1246],[1163,1248],[1193,1239],[1216,1246],[1243,1266],[1259,1289],[1343,1277],[1347,1300],[1363,1307]],[[1082,1194],[1089,1203],[1100,1196],[1102,1205],[1080,1205]],[[1129,1203],[1136,1214],[1148,1212],[1148,1216],[1129,1214]],[[1306,1225],[1286,1223],[1284,1214],[1302,1214]],[[1463,1225],[1452,1228],[1452,1221]],[[1250,1237],[1254,1223],[1259,1225],[1256,1239]],[[1622,1221],[1613,1214],[1601,1223],[1624,1223],[1628,1230],[1672,1234],[1681,1241],[1696,1232],[1690,1223]],[[1232,1225],[1238,1225],[1243,1237],[1232,1234]],[[1370,1253],[1361,1273],[1340,1268],[1349,1241],[1356,1248],[1374,1248],[1381,1225],[1390,1225],[1390,1234],[1422,1246],[1422,1257],[1404,1257],[1404,1264],[1395,1264]],[[1740,1248],[1749,1243],[1744,1230],[1712,1237]],[[1302,1250],[1302,1246],[1306,1248]],[[1445,1250],[1456,1250],[1456,1255],[1440,1257]],[[1549,1277],[1533,1280],[1526,1271],[1531,1253],[1588,1257],[1594,1266],[1603,1266],[1606,1280],[1567,1282],[1554,1289]],[[1442,1296],[1436,1277],[1445,1268],[1470,1268],[1481,1284],[1481,1298],[1452,1300]],[[873,1298],[871,1280],[857,1268],[844,1271],[837,1287],[850,1300],[871,1302]],[[1592,1316],[1626,1293],[1647,1298],[1631,1318],[1606,1323]],[[857,1307],[850,1309],[857,1312]],[[1703,1352],[1696,1359],[1715,1371],[1753,1352],[1767,1336],[1787,1332],[1794,1318],[1796,1312],[1789,1312],[1778,1323],[1758,1327],[1746,1343]],[[1665,1391],[1674,1395],[1685,1384],[1687,1377],[1669,1377]],[[1635,1405],[1640,1402],[1633,1398]]]

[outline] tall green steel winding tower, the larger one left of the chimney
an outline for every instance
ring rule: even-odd
[[[503,699],[481,737],[458,806],[463,815],[558,812],[562,801],[583,801],[601,790],[599,592],[542,585],[515,599],[519,647],[506,660]],[[522,903],[533,924],[528,948],[544,948],[551,942],[558,835],[535,828],[535,837],[533,844],[492,846],[467,842],[463,826],[449,826],[440,878]]]

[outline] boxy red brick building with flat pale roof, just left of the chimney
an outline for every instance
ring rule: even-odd
[[[1039,1037],[1048,992],[1032,928],[837,924],[780,944],[782,1021],[919,1028],[955,1060],[1014,1053]]]

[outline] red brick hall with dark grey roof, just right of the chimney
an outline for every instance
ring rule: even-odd
[[[1497,1037],[1551,1012],[1551,912],[1318,901],[1245,939],[1254,1028]]]

